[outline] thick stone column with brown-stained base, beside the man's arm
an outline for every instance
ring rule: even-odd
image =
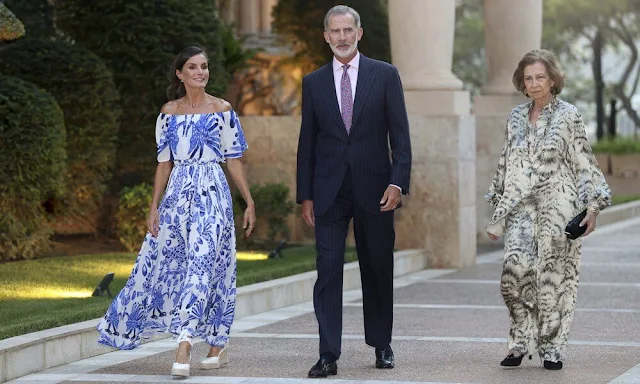
[[[474,121],[469,93],[451,72],[454,23],[455,1],[389,0],[413,152],[396,246],[424,249],[430,268],[471,265],[476,254]]]

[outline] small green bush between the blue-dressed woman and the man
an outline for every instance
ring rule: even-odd
[[[250,190],[256,207],[257,225],[249,239],[246,239],[242,230],[247,205],[240,192],[234,193],[233,210],[238,247],[255,247],[259,243],[272,247],[279,239],[289,236],[287,217],[293,212],[294,206],[289,199],[289,188],[284,183],[271,183],[254,185]]]

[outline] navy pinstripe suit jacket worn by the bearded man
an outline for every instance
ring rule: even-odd
[[[360,55],[350,134],[334,84],[331,63],[302,80],[296,201],[313,200],[314,213],[322,215],[350,168],[356,202],[379,212],[389,184],[409,192],[411,141],[398,70]]]

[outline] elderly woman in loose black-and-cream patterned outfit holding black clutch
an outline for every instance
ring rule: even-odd
[[[562,369],[578,291],[581,239],[565,227],[584,210],[582,237],[593,232],[611,192],[575,106],[558,99],[564,76],[554,55],[533,50],[513,84],[532,101],[507,120],[498,170],[485,198],[495,207],[487,232],[504,236],[500,290],[509,309],[509,354],[519,366],[538,350],[546,369]]]

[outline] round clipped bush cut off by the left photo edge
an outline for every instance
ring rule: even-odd
[[[64,193],[64,117],[48,93],[0,76],[0,260],[32,258],[48,248],[42,203]]]

